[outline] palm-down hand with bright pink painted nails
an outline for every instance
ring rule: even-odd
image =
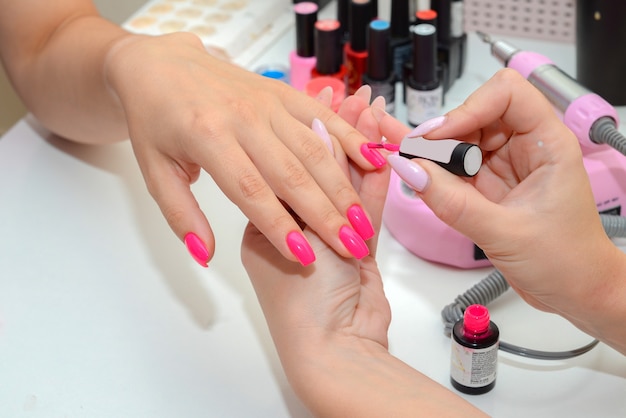
[[[361,200],[312,129],[326,126],[363,170],[386,164],[366,138],[323,103],[285,83],[207,54],[197,37],[129,37],[107,58],[146,184],[174,232],[205,264],[214,252],[209,222],[190,190],[201,170],[292,261],[315,254],[288,206],[342,257],[373,229]],[[315,126],[315,125],[313,125]]]

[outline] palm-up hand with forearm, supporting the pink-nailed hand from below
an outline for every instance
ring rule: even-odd
[[[348,98],[339,113],[368,139],[379,141],[368,94],[363,93]],[[380,114],[384,102],[377,99],[372,106]],[[335,156],[378,231],[389,170],[364,171],[338,149]],[[370,254],[357,260],[337,254],[311,228],[305,226],[304,233],[318,255],[315,264],[303,267],[278,257],[251,223],[242,260],[285,373],[305,405],[324,417],[480,415],[389,354],[391,314],[374,258],[376,239],[368,241]]]

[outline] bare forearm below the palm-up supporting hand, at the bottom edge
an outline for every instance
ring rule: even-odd
[[[290,346],[281,359],[296,393],[316,416],[485,416],[376,342],[346,336],[307,346],[310,355],[292,358],[298,349]]]

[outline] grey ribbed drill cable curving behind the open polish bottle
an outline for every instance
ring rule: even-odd
[[[600,215],[602,226],[610,238],[626,237],[626,217],[616,215]],[[444,332],[450,336],[454,324],[463,318],[465,309],[473,304],[487,305],[494,301],[509,289],[506,278],[499,270],[494,270],[487,277],[469,288],[465,293],[454,299],[454,302],[447,305],[441,311],[441,318],[444,323]],[[522,357],[539,360],[563,360],[580,356],[596,345],[598,340],[593,340],[589,344],[579,348],[565,351],[543,351],[520,347],[504,341],[500,341],[500,350],[516,354]]]

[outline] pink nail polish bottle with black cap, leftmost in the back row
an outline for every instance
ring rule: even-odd
[[[293,6],[296,16],[296,49],[289,54],[291,85],[303,90],[315,68],[315,22],[317,4],[305,1]]]

